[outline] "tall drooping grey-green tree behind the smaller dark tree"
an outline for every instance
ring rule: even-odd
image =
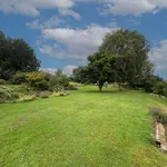
[[[130,87],[140,84],[153,72],[153,65],[148,59],[149,45],[138,31],[118,30],[108,33],[100,47],[100,52],[106,56],[120,55],[120,66],[124,67],[127,82]]]

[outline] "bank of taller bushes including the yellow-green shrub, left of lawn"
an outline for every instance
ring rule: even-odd
[[[13,77],[12,84],[28,84],[37,90],[75,89],[70,85],[69,78],[61,70],[58,70],[55,75],[45,72],[18,72]]]

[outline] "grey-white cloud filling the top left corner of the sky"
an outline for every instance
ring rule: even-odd
[[[37,17],[40,9],[69,9],[73,4],[72,0],[0,0],[0,11]]]

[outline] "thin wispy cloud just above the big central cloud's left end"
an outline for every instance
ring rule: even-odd
[[[27,22],[26,26],[29,27],[30,29],[49,29],[56,28],[63,22],[65,21],[62,19],[59,19],[58,17],[52,17],[47,21],[36,19],[32,22]]]

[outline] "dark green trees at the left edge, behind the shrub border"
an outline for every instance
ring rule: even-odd
[[[9,80],[17,71],[37,71],[40,61],[23,39],[6,37],[0,31],[0,78]]]

